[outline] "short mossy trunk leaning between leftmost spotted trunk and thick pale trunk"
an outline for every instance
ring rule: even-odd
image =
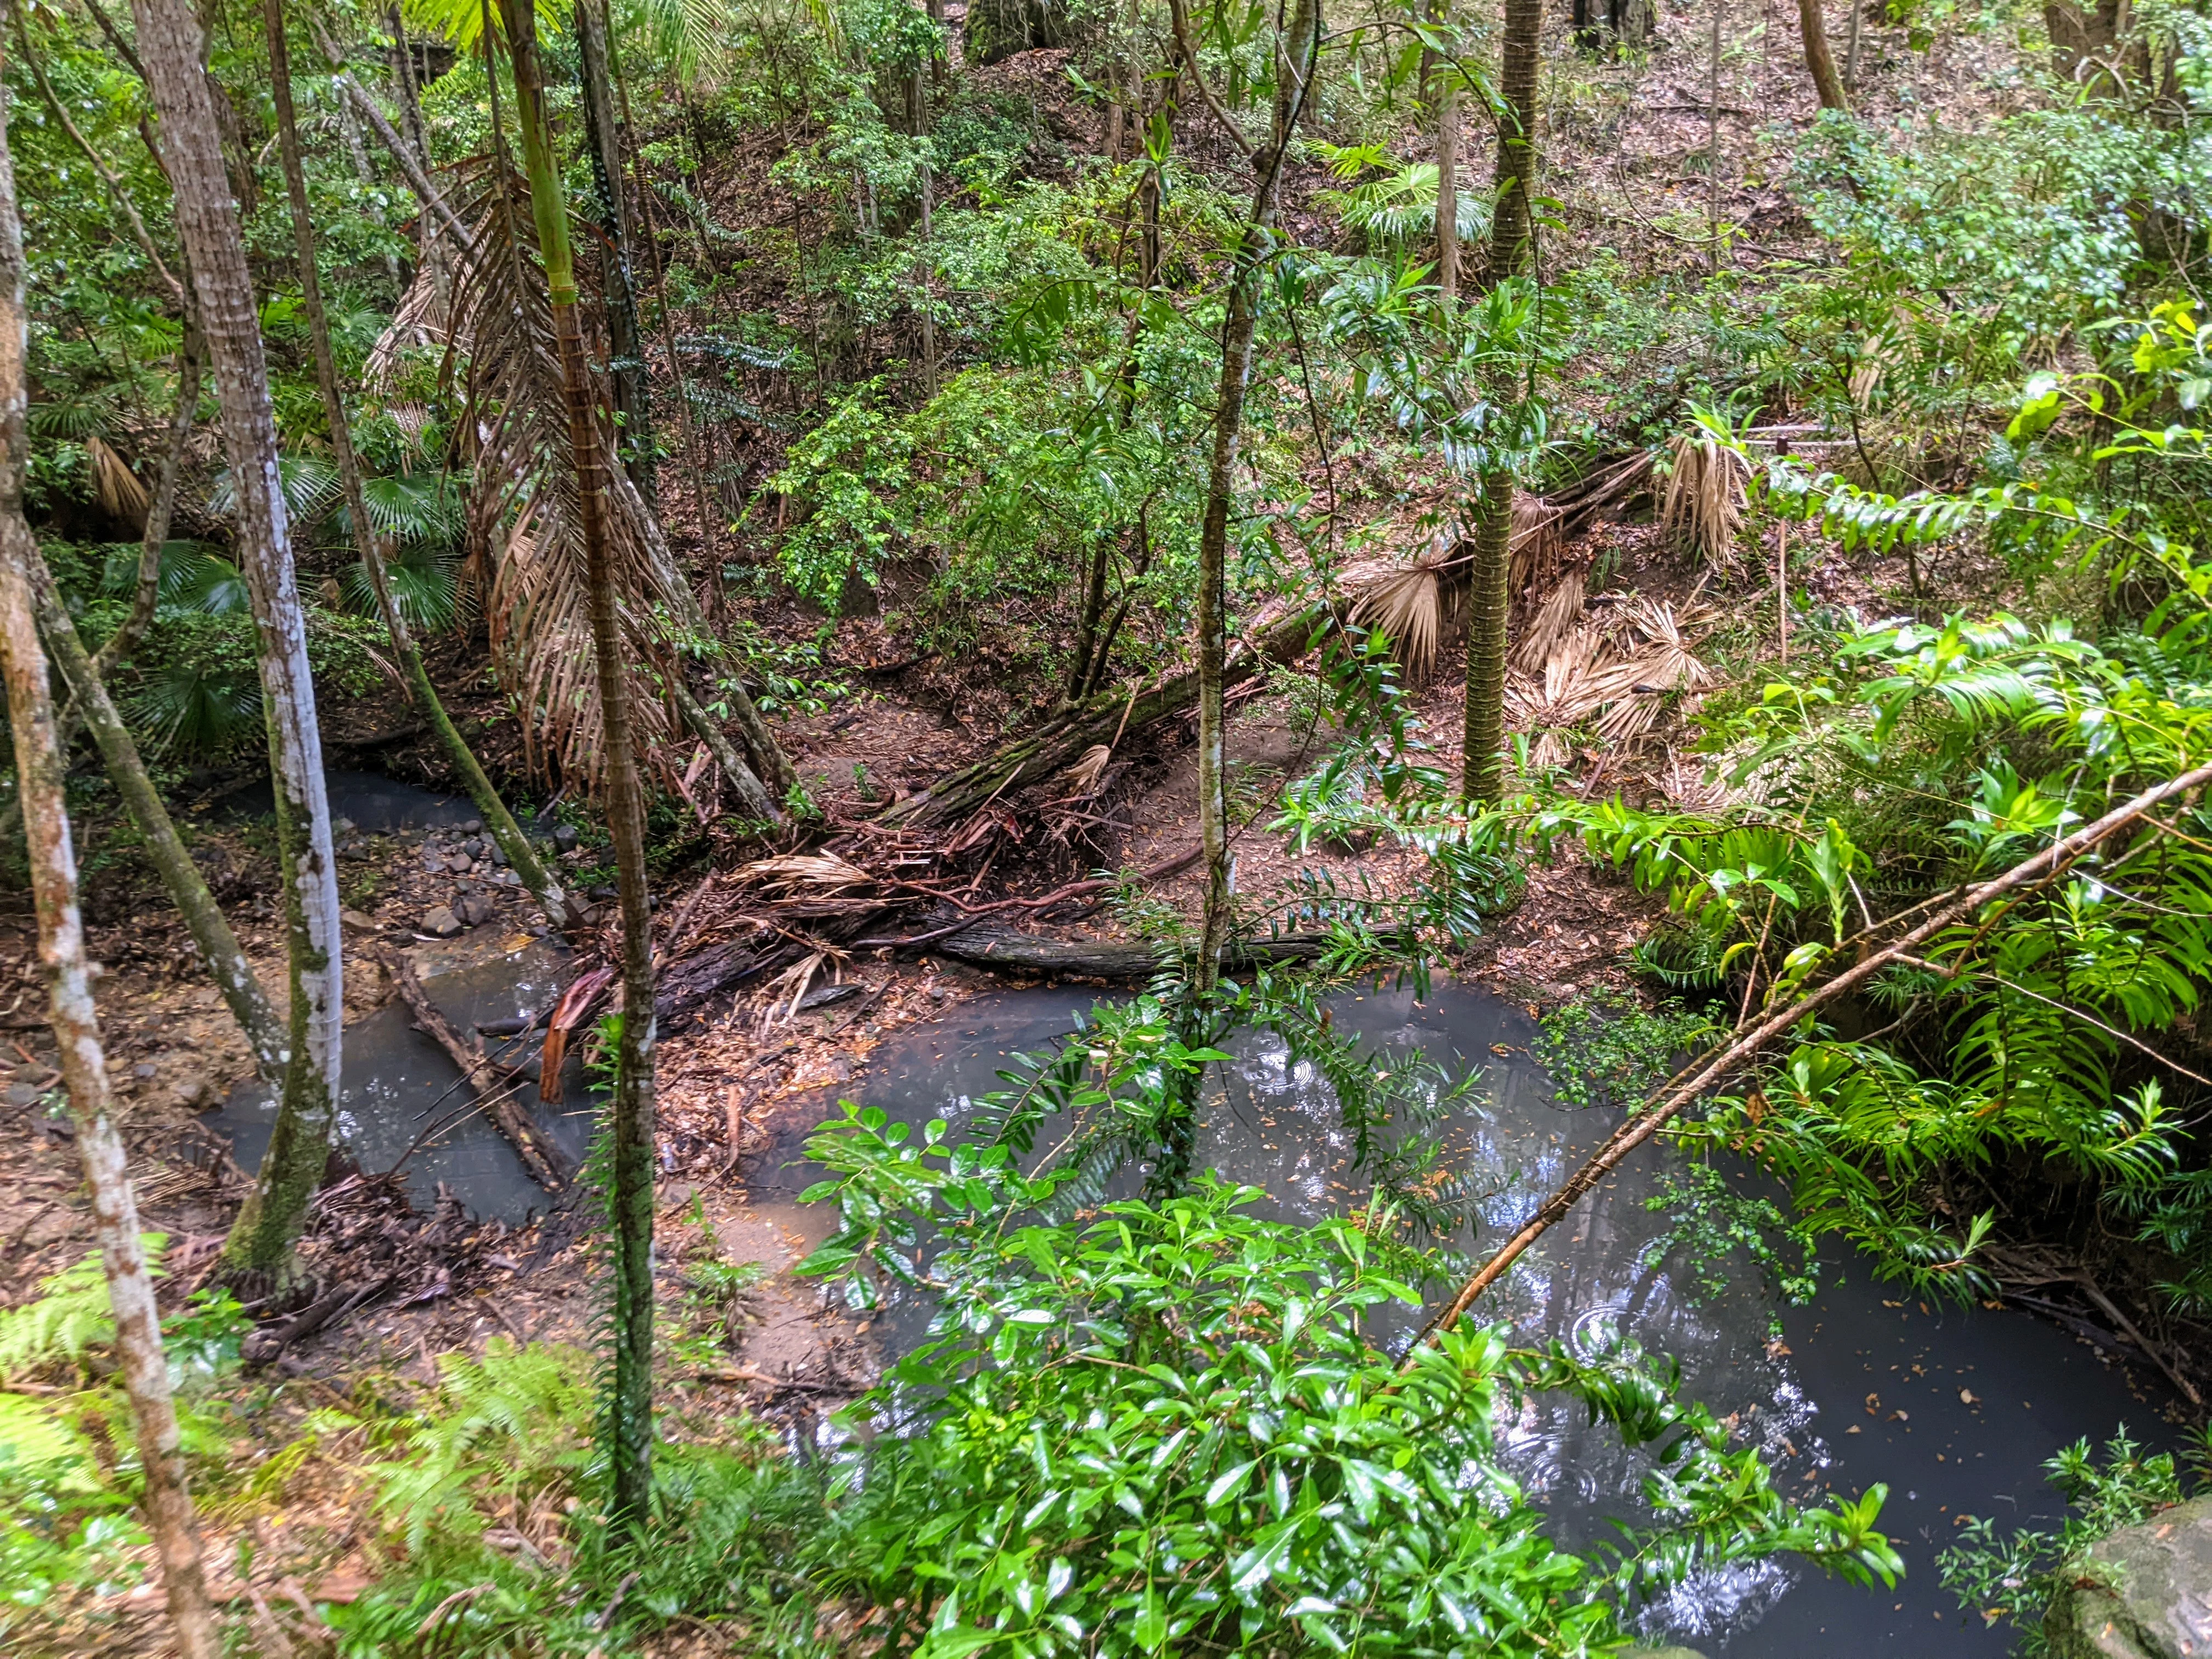
[[[146,776],[146,763],[139,759],[137,743],[131,741],[131,730],[115,710],[115,699],[108,697],[97,664],[84,653],[84,641],[77,639],[77,624],[71,622],[44,560],[31,568],[31,582],[35,586],[33,599],[38,604],[40,633],[46,637],[46,648],[53,653],[53,661],[62,670],[62,681],[69,686],[75,706],[84,710],[84,723],[93,728],[93,743],[100,745],[108,783],[124,799],[124,812],[131,814],[131,823],[146,843],[146,858],[161,876],[170,902],[184,916],[186,931],[190,931],[192,945],[215,978],[215,989],[230,1006],[239,1031],[246,1033],[246,1044],[254,1051],[254,1068],[268,1082],[281,1082],[285,1053],[290,1051],[285,1024],[270,1006],[254,964],[239,949],[239,938],[230,931],[230,922],[215,902],[215,894],[208,891],[199,867],[184,849],[177,825],[161,805],[153,779]]]

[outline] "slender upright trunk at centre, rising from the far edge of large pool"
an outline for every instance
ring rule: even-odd
[[[1230,927],[1230,814],[1223,763],[1223,666],[1228,661],[1228,551],[1230,509],[1237,502],[1237,451],[1243,438],[1245,392],[1252,385],[1252,336],[1259,325],[1259,265],[1274,239],[1283,153],[1312,91],[1321,58],[1321,0],[1298,0],[1290,29],[1276,42],[1279,75],[1274,142],[1254,157],[1259,184],[1252,215],[1237,239],[1230,270],[1228,316],[1221,325],[1221,387],[1214,398],[1214,447],[1206,469],[1206,513],[1199,522],[1199,841],[1206,849],[1206,914],[1199,929],[1197,987],[1210,991],[1219,975]],[[1199,73],[1197,64],[1188,64]]]

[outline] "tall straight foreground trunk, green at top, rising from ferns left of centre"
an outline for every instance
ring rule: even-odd
[[[591,637],[597,657],[599,714],[606,723],[606,816],[615,841],[622,896],[622,1042],[608,1135],[608,1234],[615,1281],[615,1378],[608,1402],[608,1462],[613,1464],[611,1520],[635,1535],[653,1495],[653,945],[646,896],[646,814],[630,743],[628,668],[615,611],[608,538],[608,491],[599,411],[584,361],[582,319],[575,303],[575,259],[568,250],[568,208],[553,157],[544,111],[544,71],[538,62],[533,0],[500,0],[515,66],[515,119],[531,181],[538,246],[544,252],[553,338],[560,349],[562,389],[568,400],[568,445],[582,507],[584,564],[591,584]]]

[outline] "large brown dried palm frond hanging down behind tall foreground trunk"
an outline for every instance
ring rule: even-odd
[[[471,540],[495,555],[487,622],[493,666],[520,697],[524,759],[538,772],[599,783],[599,686],[584,571],[582,495],[568,447],[568,409],[553,343],[544,270],[529,234],[529,190],[480,166],[460,206],[473,226],[456,252],[445,319],[445,380],[462,394],[456,429],[473,456]],[[416,321],[429,327],[425,303]],[[606,361],[606,352],[591,352]],[[695,611],[659,526],[615,460],[608,398],[595,387],[597,440],[608,491],[615,606],[630,672],[639,761],[677,763],[659,686],[677,672],[661,615]],[[670,783],[675,779],[670,776]]]

